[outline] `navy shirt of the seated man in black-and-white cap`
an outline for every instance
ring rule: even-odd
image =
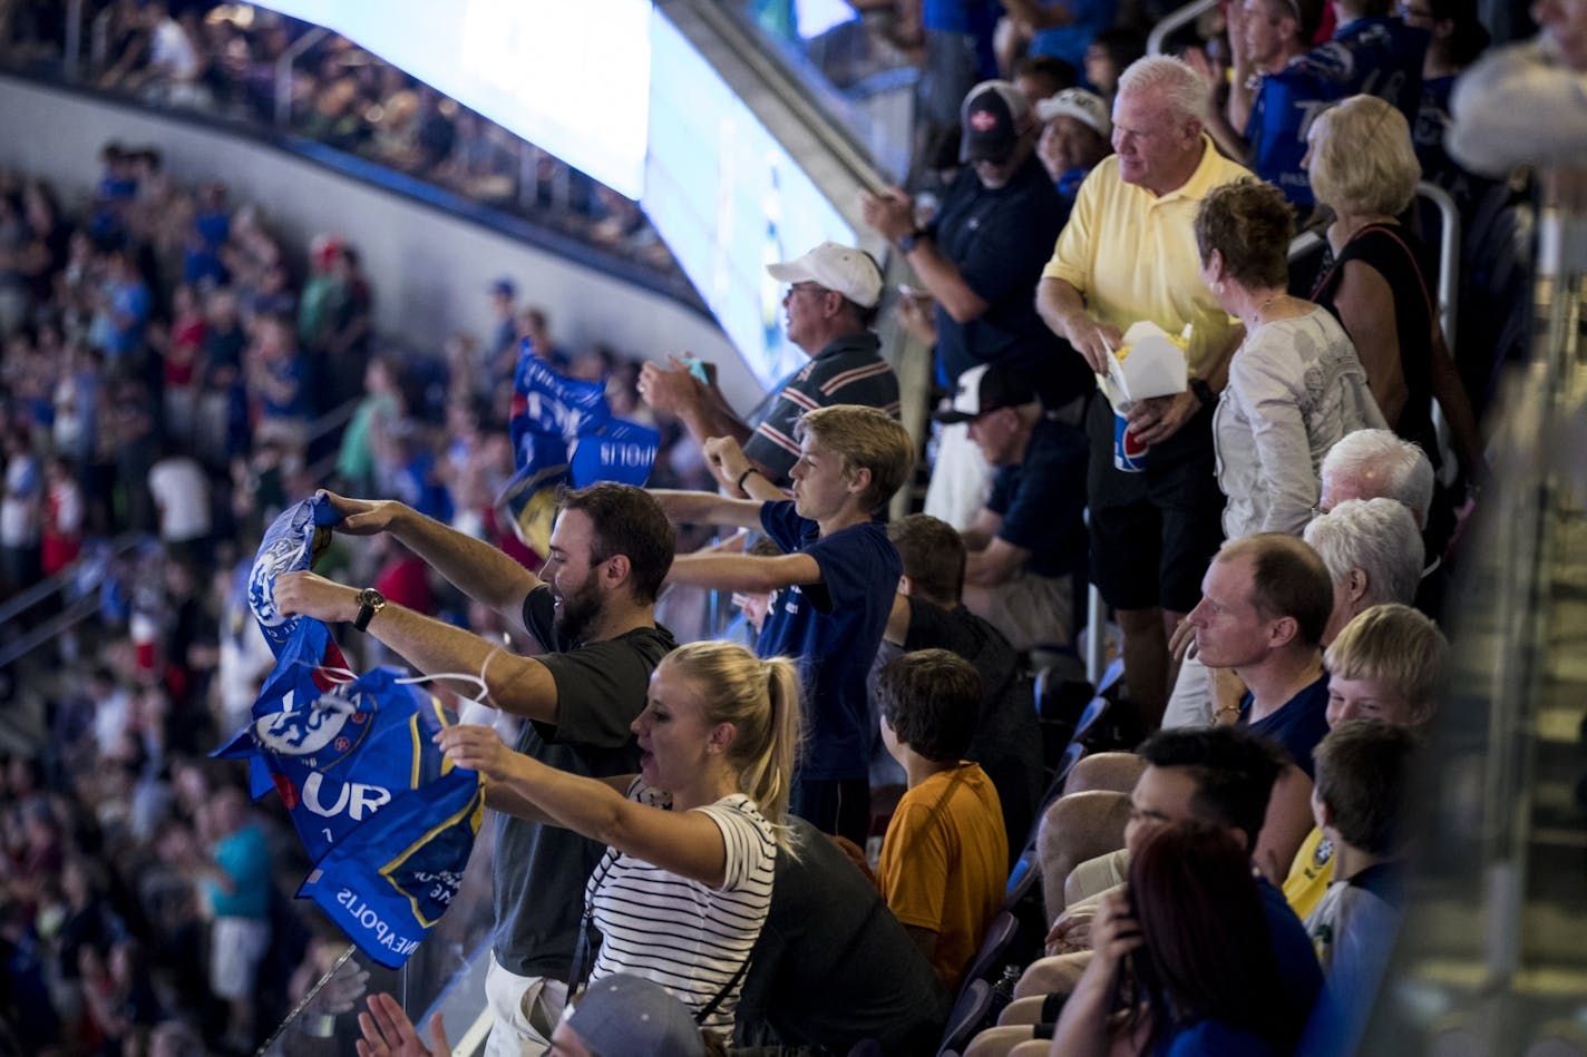
[[[1025,459],[992,479],[987,509],[1003,517],[997,535],[1030,551],[1025,568],[1038,576],[1086,571],[1086,433],[1047,417]]]

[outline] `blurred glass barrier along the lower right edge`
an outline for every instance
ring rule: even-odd
[[[1587,173],[1552,173],[1366,1054],[1587,1052]]]

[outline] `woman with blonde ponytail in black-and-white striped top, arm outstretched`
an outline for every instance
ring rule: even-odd
[[[651,676],[633,732],[640,773],[609,779],[513,752],[489,727],[448,727],[436,743],[497,797],[519,800],[514,814],[608,844],[584,897],[586,936],[603,936],[586,960],[592,982],[649,978],[698,1024],[730,1032],[773,865],[787,852],[798,676],[732,643],[681,646]]]

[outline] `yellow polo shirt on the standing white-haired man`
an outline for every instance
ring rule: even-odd
[[[1160,197],[1119,179],[1117,156],[1103,159],[1081,184],[1041,278],[1078,289],[1089,311],[1119,330],[1141,319],[1168,333],[1192,324],[1190,373],[1206,378],[1208,360],[1228,346],[1238,321],[1201,284],[1195,213],[1212,187],[1239,176],[1251,171],[1219,154],[1206,133],[1190,179]]]

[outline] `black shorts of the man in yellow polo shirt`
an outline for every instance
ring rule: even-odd
[[[1224,543],[1224,494],[1212,454],[1212,408],[1146,454],[1146,470],[1112,465],[1112,408],[1093,400],[1086,416],[1090,465],[1090,576],[1117,609],[1162,606],[1189,613],[1201,576]]]

